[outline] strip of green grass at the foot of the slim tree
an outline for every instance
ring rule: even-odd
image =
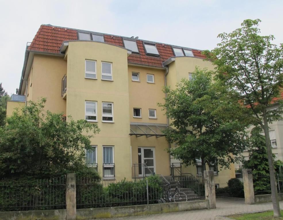
[[[281,215],[283,216],[283,211],[280,211]],[[227,216],[231,219],[237,220],[283,220],[283,217],[274,218],[273,211],[265,211],[265,212],[257,212],[257,213],[249,213],[249,214],[242,214],[242,215],[230,215]]]

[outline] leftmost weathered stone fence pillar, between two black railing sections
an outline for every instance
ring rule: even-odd
[[[68,173],[66,178],[67,220],[76,220],[76,174]]]

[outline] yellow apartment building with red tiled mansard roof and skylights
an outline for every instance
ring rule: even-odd
[[[173,171],[201,176],[196,166],[185,168],[167,153],[161,129],[168,120],[157,103],[164,101],[165,85],[175,88],[191,78],[195,66],[213,70],[203,58],[191,48],[41,25],[27,46],[18,94],[27,101],[46,97],[51,112],[97,123],[101,132],[86,158],[105,180]],[[235,177],[231,168],[210,168],[217,186]]]

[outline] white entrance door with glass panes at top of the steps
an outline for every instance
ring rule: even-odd
[[[151,173],[155,173],[155,151],[153,147],[140,147],[138,149],[140,152],[141,163],[146,166],[142,166],[139,169],[140,175],[149,176]]]

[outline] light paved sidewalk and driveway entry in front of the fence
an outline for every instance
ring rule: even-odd
[[[283,201],[280,201],[280,207],[283,207]],[[192,219],[192,220],[217,220],[225,219],[222,216],[234,215],[249,212],[267,211],[272,209],[272,203],[261,203],[256,205],[245,205],[244,200],[235,199],[216,199],[216,209],[205,209],[196,211],[162,213],[154,215],[140,215],[131,217],[112,218],[112,220],[174,220],[174,219]],[[107,219],[104,219],[107,220]]]

